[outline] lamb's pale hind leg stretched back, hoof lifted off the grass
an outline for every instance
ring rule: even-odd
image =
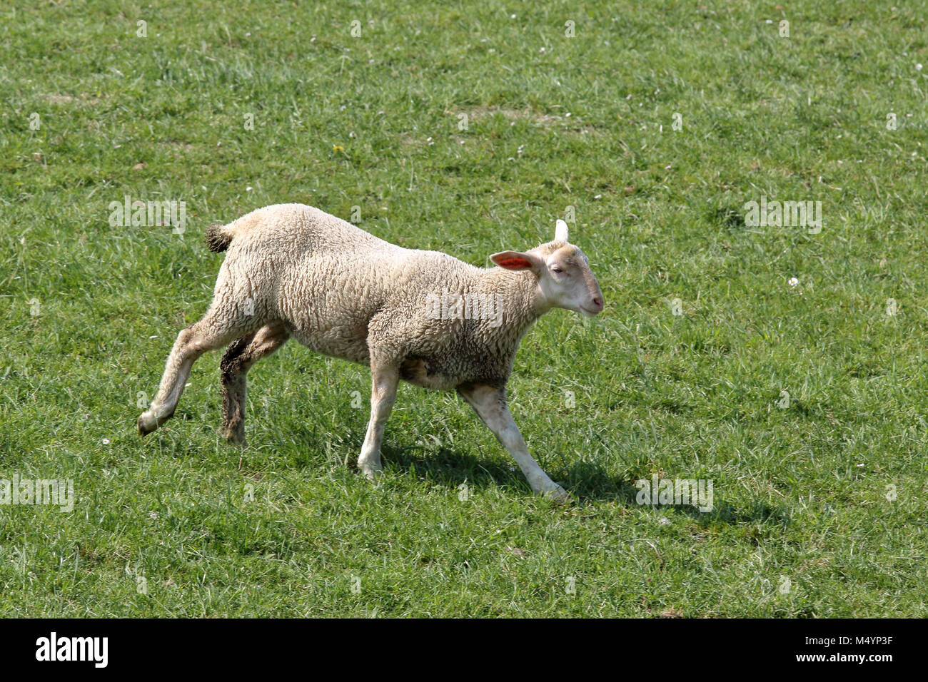
[[[148,405],[148,410],[138,418],[138,432],[147,435],[174,417],[174,409],[184,392],[193,363],[207,351],[226,345],[242,333],[253,331],[254,326],[248,328],[247,325],[241,319],[211,310],[199,322],[181,329],[168,355],[158,394]]]

